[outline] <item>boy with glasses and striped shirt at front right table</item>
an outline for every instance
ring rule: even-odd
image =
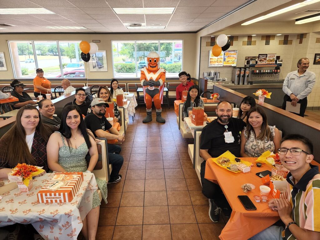
[[[320,174],[313,160],[311,141],[298,134],[285,136],[281,142],[281,164],[287,175],[288,200],[272,199],[269,207],[278,211],[284,227],[270,226],[252,240],[320,239]]]

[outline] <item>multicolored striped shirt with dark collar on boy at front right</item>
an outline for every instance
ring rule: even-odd
[[[320,232],[320,174],[319,167],[310,164],[297,184],[288,173],[288,200],[292,205],[292,219],[300,227]],[[296,240],[289,228],[285,229],[286,240]]]

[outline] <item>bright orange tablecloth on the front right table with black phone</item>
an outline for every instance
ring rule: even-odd
[[[256,175],[257,172],[271,170],[266,164],[262,164],[259,168],[255,164],[257,158],[244,157],[245,161],[252,162],[250,172],[246,173],[233,173],[226,169],[219,167],[213,161],[206,162],[204,177],[208,180],[217,180],[224,195],[226,196],[228,203],[232,208],[232,213],[226,226],[222,229],[219,238],[221,240],[243,240],[248,239],[262,230],[268,228],[279,220],[278,212],[272,211],[268,207],[268,203],[254,201],[253,196],[260,196],[260,185],[262,185],[261,179]],[[255,189],[244,193],[241,189],[241,185],[245,183],[252,183],[255,185]],[[255,211],[247,211],[239,201],[239,195],[247,195],[253,204],[257,207]],[[273,197],[269,195],[269,199]]]

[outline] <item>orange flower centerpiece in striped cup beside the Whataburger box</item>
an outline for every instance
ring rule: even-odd
[[[20,192],[28,192],[32,188],[32,177],[44,172],[42,167],[18,163],[10,173],[8,179],[17,182]]]

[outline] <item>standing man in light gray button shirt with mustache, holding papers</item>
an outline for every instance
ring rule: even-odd
[[[302,117],[308,104],[307,96],[316,83],[316,74],[307,70],[309,63],[308,58],[300,58],[297,63],[298,70],[288,73],[282,87],[286,94],[283,98],[282,109],[285,110],[287,101],[291,102],[292,106],[300,103],[300,113],[297,115]]]

